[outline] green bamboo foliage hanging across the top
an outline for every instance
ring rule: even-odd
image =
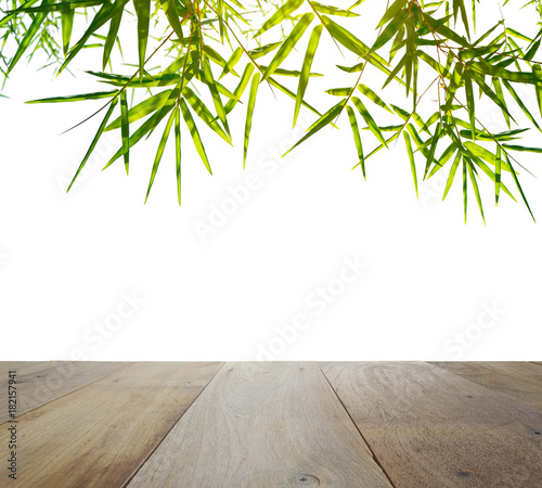
[[[175,133],[180,203],[181,140],[183,144],[192,141],[211,172],[205,149],[209,142],[198,125],[232,144],[240,132],[230,127],[234,110],[245,117],[245,166],[263,85],[292,100],[294,125],[300,111],[314,116],[306,134],[288,152],[323,128],[340,124],[352,131],[353,168],[359,166],[364,177],[371,156],[383,149],[392,150],[392,143],[401,140],[416,194],[420,179],[430,179],[441,171],[447,175],[446,198],[461,172],[465,220],[468,193],[475,196],[483,218],[482,190],[489,185],[492,192],[494,189],[495,204],[503,194],[516,200],[506,184],[515,187],[532,216],[518,178],[525,170],[518,153],[541,153],[542,149],[518,140],[529,129],[542,132],[542,67],[537,61],[542,42],[541,2],[533,0],[525,5],[533,10],[531,30],[535,33],[527,36],[522,34],[525,26],[514,28],[504,18],[483,34],[476,33],[476,16],[491,0],[388,1],[379,22],[365,29],[376,29],[375,36],[366,36],[374,40],[367,41],[362,39],[365,30],[354,31],[349,23],[363,16],[364,9],[375,1],[361,0],[343,8],[313,0],[287,0],[279,5],[237,0],[10,0],[0,20],[0,33],[4,46],[14,40],[16,48],[9,54],[2,50],[0,67],[9,77],[21,60],[42,50],[61,73],[81,50],[102,49],[102,70],[87,73],[96,82],[108,85],[109,90],[28,103],[104,102],[94,114],[103,117],[99,131],[74,181],[104,131],[121,132],[121,146],[105,167],[122,158],[128,172],[132,146],[159,126],[162,138],[145,202],[159,163],[167,157],[170,134]],[[517,0],[505,5],[514,2]],[[258,26],[253,22],[255,13],[264,15]],[[75,14],[87,18],[82,35],[76,39]],[[130,17],[137,20],[137,38],[130,42],[138,47],[138,59],[132,63],[133,74],[126,76],[115,73],[112,53],[116,46],[120,49],[120,40],[125,41],[119,30]],[[167,23],[166,34],[155,28],[155,17]],[[337,50],[350,53],[356,62],[344,63],[348,56],[341,57],[336,69],[347,88],[326,89],[334,98],[331,107],[317,107],[308,93],[311,78],[322,76],[312,67],[324,38],[331,39]],[[171,63],[151,74],[149,62],[159,50],[168,53]],[[292,62],[296,51],[301,55],[298,66]],[[402,106],[386,98],[390,85],[403,90],[408,102]],[[518,94],[518,85],[532,92],[529,100]],[[144,93],[143,101],[130,103],[132,91]],[[478,116],[480,104],[493,105],[507,130],[490,130]],[[431,110],[427,112],[427,107]],[[520,119],[517,114],[521,114]],[[384,117],[386,123],[382,121]]]

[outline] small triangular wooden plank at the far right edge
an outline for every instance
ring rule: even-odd
[[[430,362],[542,411],[542,368],[531,362]]]

